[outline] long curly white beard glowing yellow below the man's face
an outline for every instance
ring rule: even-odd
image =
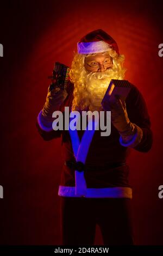
[[[83,67],[77,82],[74,82],[72,109],[77,111],[103,110],[101,102],[111,79],[123,79],[117,68],[103,72],[89,72]]]

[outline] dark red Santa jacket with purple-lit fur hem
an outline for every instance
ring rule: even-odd
[[[134,147],[134,150],[146,153],[151,149],[153,142],[151,121],[142,94],[133,84],[130,85],[131,90],[126,98],[128,117],[143,131],[141,142]],[[62,112],[65,106],[72,106],[73,84],[69,82],[67,88],[68,96],[60,107]],[[120,141],[120,134],[113,125],[111,125],[110,136],[101,136],[101,130],[96,130],[93,135],[84,166],[86,189],[83,194],[78,194],[76,191],[76,159],[70,133],[59,130],[46,131],[40,123],[39,116],[36,126],[45,141],[61,137],[64,166],[61,172],[59,196],[132,198],[132,189],[128,181],[129,166],[126,163],[131,149],[129,144],[125,145]],[[80,140],[83,133],[82,130],[78,131]]]

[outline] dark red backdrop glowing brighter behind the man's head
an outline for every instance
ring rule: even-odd
[[[1,244],[60,244],[60,139],[43,141],[35,122],[54,61],[71,65],[77,41],[97,28],[108,32],[126,56],[126,79],[142,92],[152,121],[152,150],[133,150],[128,160],[135,242],[163,244],[161,10],[154,1],[1,4]],[[101,242],[97,229],[96,243]]]

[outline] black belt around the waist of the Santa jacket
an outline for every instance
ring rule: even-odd
[[[96,170],[106,170],[106,169],[112,169],[112,168],[117,168],[120,166],[124,166],[126,164],[126,162],[119,162],[119,163],[108,163],[108,164],[104,164],[103,166],[90,166],[87,164],[84,164],[80,161],[75,162],[75,161],[65,161],[65,166],[74,169],[74,170],[78,170],[79,172],[83,172],[84,171],[96,171]]]

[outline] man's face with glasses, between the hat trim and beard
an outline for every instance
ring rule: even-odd
[[[84,66],[87,71],[102,72],[112,68],[112,58],[109,53],[97,53],[95,56],[86,57]]]

